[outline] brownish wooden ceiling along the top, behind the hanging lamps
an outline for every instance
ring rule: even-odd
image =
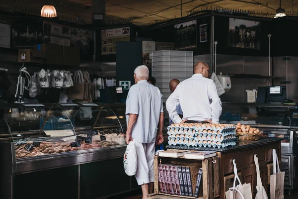
[[[91,0],[50,0],[58,17],[91,22]],[[182,6],[181,6],[182,2]],[[0,6],[13,11],[35,10],[38,14],[48,0],[0,0]],[[186,16],[191,10],[210,7],[234,8],[266,13],[276,13],[279,0],[106,0],[106,19],[133,19],[135,24],[149,24],[160,20]],[[298,11],[298,0],[282,0],[286,11]],[[32,12],[32,11],[31,11]],[[35,13],[34,12],[34,13]]]

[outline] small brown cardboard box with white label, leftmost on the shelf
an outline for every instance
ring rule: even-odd
[[[45,53],[34,49],[19,49],[17,55],[18,62],[32,62],[44,64]]]

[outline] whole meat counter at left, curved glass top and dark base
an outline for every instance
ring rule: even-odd
[[[0,112],[1,199],[21,199],[33,184],[30,198],[44,199],[138,188],[123,168],[125,115],[107,104],[0,104]]]

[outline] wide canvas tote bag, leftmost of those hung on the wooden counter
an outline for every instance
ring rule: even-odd
[[[237,167],[236,167],[236,161],[233,160],[234,165],[234,184],[232,188],[229,188],[228,191],[225,192],[225,198],[226,199],[252,199],[252,193],[251,193],[251,186],[250,183],[248,184],[241,184],[240,179],[237,175]],[[236,186],[236,180],[238,180],[239,185]]]

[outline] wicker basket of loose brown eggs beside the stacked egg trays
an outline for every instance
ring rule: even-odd
[[[239,141],[254,141],[260,138],[260,130],[257,128],[251,128],[249,125],[237,123],[236,135],[239,137]]]

